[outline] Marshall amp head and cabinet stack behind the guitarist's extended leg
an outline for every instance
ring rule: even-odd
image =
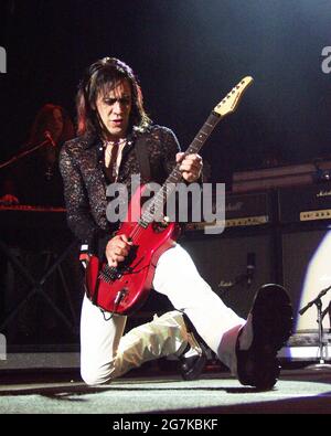
[[[256,289],[276,281],[274,195],[227,193],[224,232],[206,235],[210,223],[192,223],[180,241],[202,277],[242,317],[248,315]],[[247,273],[253,276],[247,278]]]

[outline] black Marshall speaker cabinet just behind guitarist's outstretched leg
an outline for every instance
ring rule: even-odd
[[[180,243],[212,289],[244,318],[249,312],[256,289],[275,280],[274,241],[268,231],[254,228],[254,232],[234,233],[225,230],[222,235],[191,235]],[[207,316],[207,308],[205,311]]]

